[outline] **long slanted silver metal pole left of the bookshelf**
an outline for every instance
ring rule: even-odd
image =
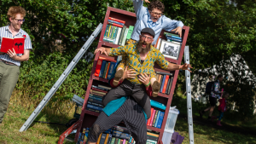
[[[79,50],[79,53],[73,58],[73,60],[67,66],[66,70],[61,74],[61,77],[57,80],[57,82],[53,85],[53,87],[49,89],[49,92],[47,93],[47,95],[44,96],[43,101],[39,103],[38,107],[34,110],[34,112],[32,112],[30,117],[26,119],[25,124],[23,124],[22,127],[20,128],[20,132],[27,130],[27,128],[34,121],[34,119],[38,117],[39,112],[42,111],[42,109],[45,107],[45,105],[50,100],[52,95],[54,95],[56,90],[59,89],[61,84],[67,78],[68,74],[73,70],[73,67],[77,65],[77,63],[79,62],[81,57],[84,55],[86,50],[90,47],[90,44],[94,41],[94,39],[97,37],[97,35],[101,31],[102,31],[102,23],[100,23],[99,26],[96,27],[96,30],[90,35],[88,40],[84,43],[84,46]]]

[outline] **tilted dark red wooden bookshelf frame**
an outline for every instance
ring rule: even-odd
[[[107,10],[106,15],[105,15],[104,23],[103,23],[103,26],[102,26],[102,33],[101,33],[100,40],[99,40],[97,48],[100,48],[100,47],[117,48],[117,47],[119,47],[119,45],[117,45],[117,44],[108,43],[108,42],[103,41],[104,33],[106,31],[106,27],[107,27],[107,24],[108,24],[108,17],[113,17],[113,18],[116,18],[116,19],[119,19],[119,20],[125,20],[125,26],[127,26],[127,27],[134,26],[135,23],[136,23],[136,20],[137,20],[135,13],[131,13],[131,12],[128,12],[128,11],[125,11],[125,10],[114,9],[114,8],[108,7],[108,10]],[[165,36],[164,36],[164,32],[165,31],[162,31],[160,33],[160,37],[162,39],[166,39]],[[184,51],[184,48],[185,48],[185,44],[186,44],[186,41],[187,41],[188,34],[189,34],[189,27],[188,26],[183,26],[183,43],[181,45],[181,49],[180,49],[180,52],[179,52],[179,55],[178,55],[178,59],[173,60],[173,59],[170,59],[170,58],[166,58],[166,60],[168,60],[169,62],[178,64],[178,65],[181,64],[181,60],[183,59],[183,51]],[[79,124],[78,132],[75,136],[75,141],[78,141],[78,139],[79,139],[79,132],[82,132],[83,128],[90,127],[92,124],[94,124],[94,122],[96,121],[96,118],[99,116],[98,112],[91,112],[91,111],[85,109],[86,105],[87,105],[89,95],[90,95],[91,86],[92,85],[97,85],[97,84],[102,84],[102,85],[105,85],[105,86],[109,86],[108,85],[108,79],[99,78],[99,77],[96,77],[94,75],[95,70],[96,70],[96,63],[97,63],[97,60],[98,60],[99,56],[106,57],[106,58],[113,59],[113,60],[117,59],[117,57],[110,57],[110,56],[106,56],[106,55],[101,55],[100,53],[96,54],[95,59],[94,59],[94,63],[93,63],[93,68],[92,68],[92,71],[91,71],[91,74],[90,74],[90,81],[89,81],[89,84],[88,84],[88,87],[87,87],[87,90],[86,90],[86,94],[84,95],[84,105],[83,105],[82,113],[81,113],[81,116],[80,116],[80,119],[79,119],[81,124]],[[154,70],[155,70],[155,72],[168,72],[168,71],[165,71],[165,70],[161,69],[160,66],[158,66],[156,63],[154,64]],[[154,130],[154,131],[160,133],[159,141],[158,141],[159,144],[162,144],[161,139],[162,139],[162,136],[163,136],[163,133],[164,133],[164,130],[165,130],[167,113],[169,112],[169,108],[170,108],[171,103],[172,103],[172,95],[173,95],[175,85],[176,85],[176,82],[177,82],[178,72],[179,72],[178,70],[168,72],[168,73],[173,73],[172,88],[171,88],[171,92],[170,92],[169,95],[159,93],[158,97],[150,97],[150,99],[152,99],[154,101],[158,101],[158,102],[163,103],[163,104],[166,105],[165,116],[164,116],[161,128],[158,129],[158,128],[155,128],[155,127],[152,127],[152,126],[147,126],[148,130]],[[120,124],[120,125],[124,125],[124,124]]]

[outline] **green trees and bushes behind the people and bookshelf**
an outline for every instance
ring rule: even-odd
[[[182,20],[185,26],[190,27],[187,45],[195,73],[198,69],[230,59],[230,55],[241,55],[255,75],[255,0],[161,2],[166,6],[167,17]],[[27,11],[22,29],[32,37],[33,47],[30,60],[22,62],[20,66],[20,79],[15,91],[19,95],[29,95],[35,101],[49,91],[86,38],[99,22],[103,22],[108,6],[134,12],[129,0],[1,0],[0,26],[8,25],[6,14],[9,7],[14,5],[20,5]],[[147,6],[147,3],[144,5]],[[95,41],[89,51],[94,51],[96,45]],[[52,100],[69,99],[73,94],[84,95],[91,67],[92,61],[80,60]],[[222,72],[220,68],[218,72]],[[236,78],[245,75],[236,75]],[[185,89],[183,76],[178,78],[177,84],[177,90]],[[239,79],[230,85],[230,93],[236,97],[233,101],[241,103],[238,107],[247,107],[244,112],[252,109],[253,105],[247,103],[255,102],[253,86],[247,87],[248,83],[241,84]],[[241,87],[239,93],[234,90],[237,87]],[[246,99],[241,99],[245,92]],[[251,115],[251,111],[243,114],[246,117]]]

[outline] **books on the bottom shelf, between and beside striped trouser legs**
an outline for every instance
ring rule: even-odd
[[[89,133],[90,129],[84,128],[83,132],[79,134],[77,144],[87,143]],[[135,144],[136,141],[129,133],[125,127],[115,125],[99,135],[96,144]],[[152,130],[147,131],[147,144],[156,144],[158,138],[159,133],[154,133]]]

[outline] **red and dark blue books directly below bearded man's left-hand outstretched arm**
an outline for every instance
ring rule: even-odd
[[[115,64],[115,60],[99,56],[94,75],[96,77],[110,79]]]

